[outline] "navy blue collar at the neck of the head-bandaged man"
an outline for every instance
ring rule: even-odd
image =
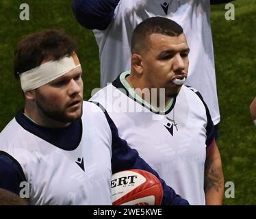
[[[23,112],[24,110],[18,112],[15,119],[25,130],[65,151],[77,149],[83,131],[81,118],[75,120],[71,125],[68,125],[68,127],[47,128],[33,123]]]

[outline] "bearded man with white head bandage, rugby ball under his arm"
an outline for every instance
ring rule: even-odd
[[[111,205],[112,171],[142,168],[159,177],[111,118],[83,101],[82,70],[68,36],[55,30],[27,36],[14,65],[25,107],[0,133],[0,188],[31,205]],[[162,204],[188,204],[162,185]]]

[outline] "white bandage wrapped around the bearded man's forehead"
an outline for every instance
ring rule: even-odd
[[[64,57],[61,60],[45,62],[36,68],[20,74],[22,90],[29,91],[39,88],[44,84],[68,73],[81,66],[77,55],[74,53],[71,57]]]

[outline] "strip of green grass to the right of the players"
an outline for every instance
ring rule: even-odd
[[[225,181],[235,183],[227,205],[256,204],[256,128],[248,109],[256,96],[256,2],[235,1],[235,21],[225,5],[212,7],[212,34],[220,104],[220,138]]]

